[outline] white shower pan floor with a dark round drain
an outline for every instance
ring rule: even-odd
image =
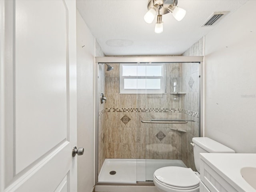
[[[136,183],[153,181],[155,170],[166,166],[186,167],[182,160],[162,159],[105,159],[98,182]],[[110,172],[115,171],[115,174]]]

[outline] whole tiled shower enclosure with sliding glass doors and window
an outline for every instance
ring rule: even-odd
[[[104,59],[96,58],[96,184],[152,184],[164,166],[195,170],[202,57]]]

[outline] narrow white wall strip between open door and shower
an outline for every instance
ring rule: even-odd
[[[94,187],[94,54],[95,38],[76,12],[78,192]]]

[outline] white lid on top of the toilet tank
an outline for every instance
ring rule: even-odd
[[[235,153],[235,151],[229,147],[208,137],[194,137],[192,138],[192,142],[208,151],[209,153]]]

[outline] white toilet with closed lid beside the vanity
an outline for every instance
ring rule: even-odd
[[[168,166],[154,172],[154,184],[160,192],[199,192],[200,181],[200,153],[235,153],[228,148],[207,137],[192,138],[194,147],[194,161],[196,170],[191,168]]]

